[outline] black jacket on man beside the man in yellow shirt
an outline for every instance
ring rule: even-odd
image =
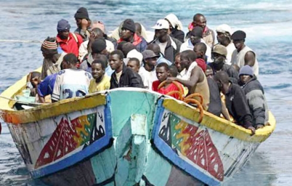
[[[137,87],[144,88],[142,78],[139,78],[139,74],[134,73],[134,71],[126,67],[125,63],[123,63],[122,75],[120,77],[120,81],[118,82],[116,73],[111,74],[110,78],[110,89],[120,88],[120,87]]]

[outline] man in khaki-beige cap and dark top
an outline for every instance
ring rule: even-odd
[[[230,65],[225,63],[227,56],[226,47],[223,45],[215,45],[212,52],[212,58],[214,59],[213,63],[209,63],[209,66],[212,67],[214,73],[218,73],[219,71],[226,72],[230,80],[234,83],[238,81],[238,73],[237,71]]]

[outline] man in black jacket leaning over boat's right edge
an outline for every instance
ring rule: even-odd
[[[228,112],[235,119],[236,123],[255,134],[253,127],[253,116],[250,113],[246,97],[243,90],[236,84],[229,81],[226,72],[220,71],[214,75],[214,80],[219,86],[219,90],[225,94],[225,104]]]

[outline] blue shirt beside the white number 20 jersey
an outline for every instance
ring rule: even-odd
[[[58,73],[48,75],[38,86],[37,86],[37,94],[40,97],[45,97],[46,95],[52,95],[56,76]]]

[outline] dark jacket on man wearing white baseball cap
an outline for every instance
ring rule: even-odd
[[[154,43],[157,39],[158,38],[155,38],[149,44]],[[176,49],[171,45],[171,42],[172,42],[171,40],[173,40],[173,42],[176,44],[176,46],[177,46]],[[170,38],[170,36],[167,37],[166,42],[167,42],[167,44],[166,44],[165,51],[164,51],[164,58],[173,63],[174,56],[180,52],[182,42],[176,38]]]

